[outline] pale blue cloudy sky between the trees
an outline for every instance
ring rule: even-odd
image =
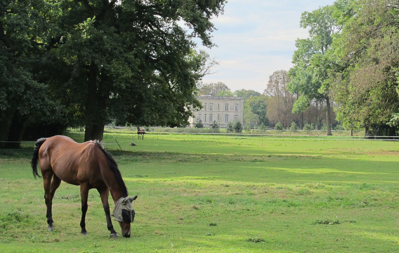
[[[203,82],[223,82],[231,91],[266,89],[269,76],[292,67],[295,40],[306,38],[308,30],[299,27],[300,15],[334,0],[228,0],[224,14],[213,18],[217,28],[211,49],[198,43],[219,61]]]

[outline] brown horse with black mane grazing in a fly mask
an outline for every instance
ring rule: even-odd
[[[31,161],[33,175],[39,176],[37,164],[39,161],[43,176],[44,199],[47,206],[48,230],[53,231],[51,206],[55,190],[61,180],[68,184],[80,185],[82,201],[81,234],[87,235],[85,216],[87,211],[87,196],[89,189],[95,188],[100,193],[101,202],[107,219],[107,228],[111,237],[118,237],[109,211],[108,196],[115,203],[113,216],[119,221],[124,237],[130,237],[130,223],[134,220],[132,201],[137,198],[128,197],[126,186],[115,160],[97,141],[77,143],[67,136],[53,136],[39,139],[34,148]],[[40,176],[39,176],[40,177]],[[51,178],[53,180],[51,181]]]

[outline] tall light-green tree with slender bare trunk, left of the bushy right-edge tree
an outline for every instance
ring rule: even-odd
[[[334,59],[328,53],[333,34],[339,33],[342,25],[333,17],[332,6],[320,7],[312,12],[303,12],[300,20],[302,28],[309,28],[309,38],[296,40],[296,51],[289,71],[291,81],[288,89],[301,94],[295,102],[293,112],[304,111],[312,99],[326,102],[327,135],[331,135],[331,101],[328,71]]]

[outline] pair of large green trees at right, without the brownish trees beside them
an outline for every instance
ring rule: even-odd
[[[312,101],[326,106],[344,128],[365,135],[395,135],[399,125],[399,2],[337,0],[302,13],[309,37],[296,40],[288,90],[298,94],[293,112]],[[332,109],[334,107],[334,112]]]

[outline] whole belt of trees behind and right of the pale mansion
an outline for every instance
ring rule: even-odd
[[[338,0],[302,13],[300,26],[309,36],[296,40],[294,66],[275,71],[262,95],[235,91],[249,94],[245,123],[326,129],[327,135],[342,124],[346,130],[362,128],[366,135],[395,135],[399,2]],[[225,90],[217,92],[233,94]]]

